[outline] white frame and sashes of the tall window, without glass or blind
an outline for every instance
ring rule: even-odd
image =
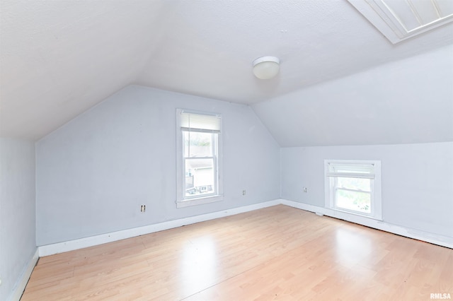
[[[217,139],[214,140],[215,146],[213,146],[213,152],[217,151],[216,153],[212,153],[210,158],[214,160],[214,185],[217,187],[213,187],[214,193],[202,196],[192,196],[186,197],[185,196],[185,146],[183,143],[184,135],[181,126],[181,114],[182,113],[189,113],[189,114],[199,114],[199,115],[206,115],[206,116],[214,116],[219,117],[220,119],[220,130],[218,133],[214,133],[217,136]],[[204,131],[196,131],[193,132],[204,132]],[[205,157],[200,157],[200,159]],[[201,112],[195,110],[185,110],[185,109],[176,109],[176,207],[177,208],[184,208],[188,206],[196,206],[201,205],[204,203],[213,203],[217,201],[223,201],[223,183],[222,183],[222,115],[212,112]],[[217,192],[217,193],[216,193]]]

